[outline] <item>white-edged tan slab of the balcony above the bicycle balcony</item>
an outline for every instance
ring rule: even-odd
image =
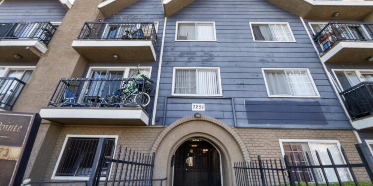
[[[150,40],[75,40],[72,47],[88,61],[155,62],[156,53]],[[113,55],[118,55],[114,59]]]

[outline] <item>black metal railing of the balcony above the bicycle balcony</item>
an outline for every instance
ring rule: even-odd
[[[157,43],[153,22],[86,22],[78,39],[151,40]]]

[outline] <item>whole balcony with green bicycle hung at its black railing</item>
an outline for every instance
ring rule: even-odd
[[[60,79],[40,116],[61,124],[148,125],[151,83],[145,76]]]

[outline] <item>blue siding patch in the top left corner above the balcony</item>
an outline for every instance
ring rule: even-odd
[[[66,11],[58,0],[5,0],[0,5],[0,22],[59,22]]]

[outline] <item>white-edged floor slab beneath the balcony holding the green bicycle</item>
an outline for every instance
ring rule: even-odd
[[[42,119],[60,124],[148,125],[149,115],[142,108],[74,108],[40,110]]]

